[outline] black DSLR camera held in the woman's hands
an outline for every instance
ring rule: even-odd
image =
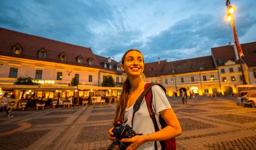
[[[135,135],[142,135],[136,134],[135,131],[133,131],[132,128],[126,123],[114,127],[112,132],[114,133],[113,136],[116,137],[116,140],[110,144],[108,150],[125,150],[130,145],[130,143],[122,142],[122,138],[132,138]]]

